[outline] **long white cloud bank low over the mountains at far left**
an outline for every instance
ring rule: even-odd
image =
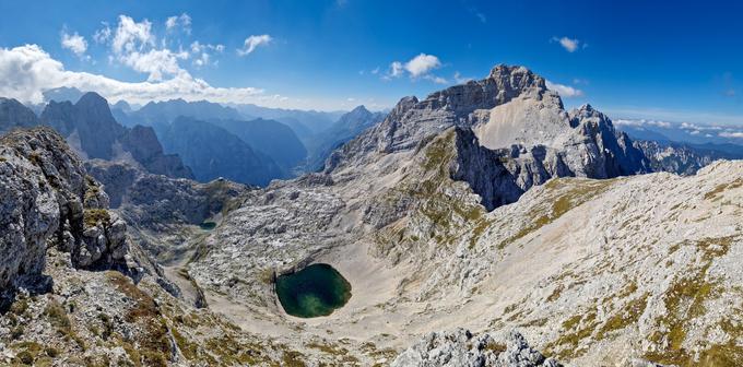
[[[24,103],[42,103],[42,92],[69,86],[95,91],[116,103],[126,99],[144,104],[150,100],[184,98],[209,99],[217,103],[264,103],[281,100],[282,96],[267,96],[255,87],[215,87],[184,71],[161,82],[122,82],[103,75],[74,72],[51,58],[37,45],[0,48],[0,95]]]

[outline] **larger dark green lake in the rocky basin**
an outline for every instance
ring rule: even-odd
[[[328,316],[351,298],[351,284],[329,264],[311,264],[276,279],[276,295],[286,313],[312,318]]]

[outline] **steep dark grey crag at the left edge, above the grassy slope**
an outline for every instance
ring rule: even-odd
[[[51,246],[70,252],[78,268],[137,271],[127,257],[126,223],[107,211],[108,197],[59,134],[14,130],[0,139],[0,287],[40,274]]]

